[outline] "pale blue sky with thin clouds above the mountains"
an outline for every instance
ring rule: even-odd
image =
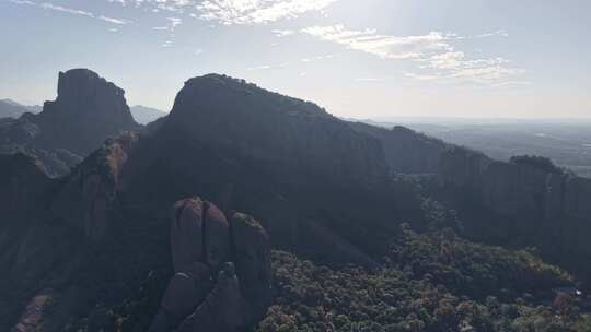
[[[0,98],[89,68],[165,111],[223,73],[348,118],[589,118],[588,0],[0,0]]]

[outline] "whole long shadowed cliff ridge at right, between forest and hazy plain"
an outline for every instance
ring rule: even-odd
[[[424,177],[426,191],[456,210],[473,238],[537,247],[591,280],[589,179],[541,157],[499,162],[404,128],[352,126],[380,140],[391,171],[432,174]]]

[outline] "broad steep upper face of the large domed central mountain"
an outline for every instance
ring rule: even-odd
[[[286,168],[286,176],[298,169],[375,183],[386,175],[376,140],[359,134],[312,103],[228,76],[211,74],[187,81],[163,130],[277,164]]]

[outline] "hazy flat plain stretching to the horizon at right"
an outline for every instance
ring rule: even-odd
[[[560,167],[591,178],[591,122],[589,120],[389,118],[362,122],[393,128],[404,126],[445,142],[468,146],[509,161],[515,155],[549,157]]]

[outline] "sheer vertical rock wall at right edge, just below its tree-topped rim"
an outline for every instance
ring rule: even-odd
[[[497,162],[456,147],[442,154],[439,177],[444,187],[463,189],[466,195],[500,215],[540,222],[591,218],[591,210],[583,203],[590,198],[591,180],[567,173]]]

